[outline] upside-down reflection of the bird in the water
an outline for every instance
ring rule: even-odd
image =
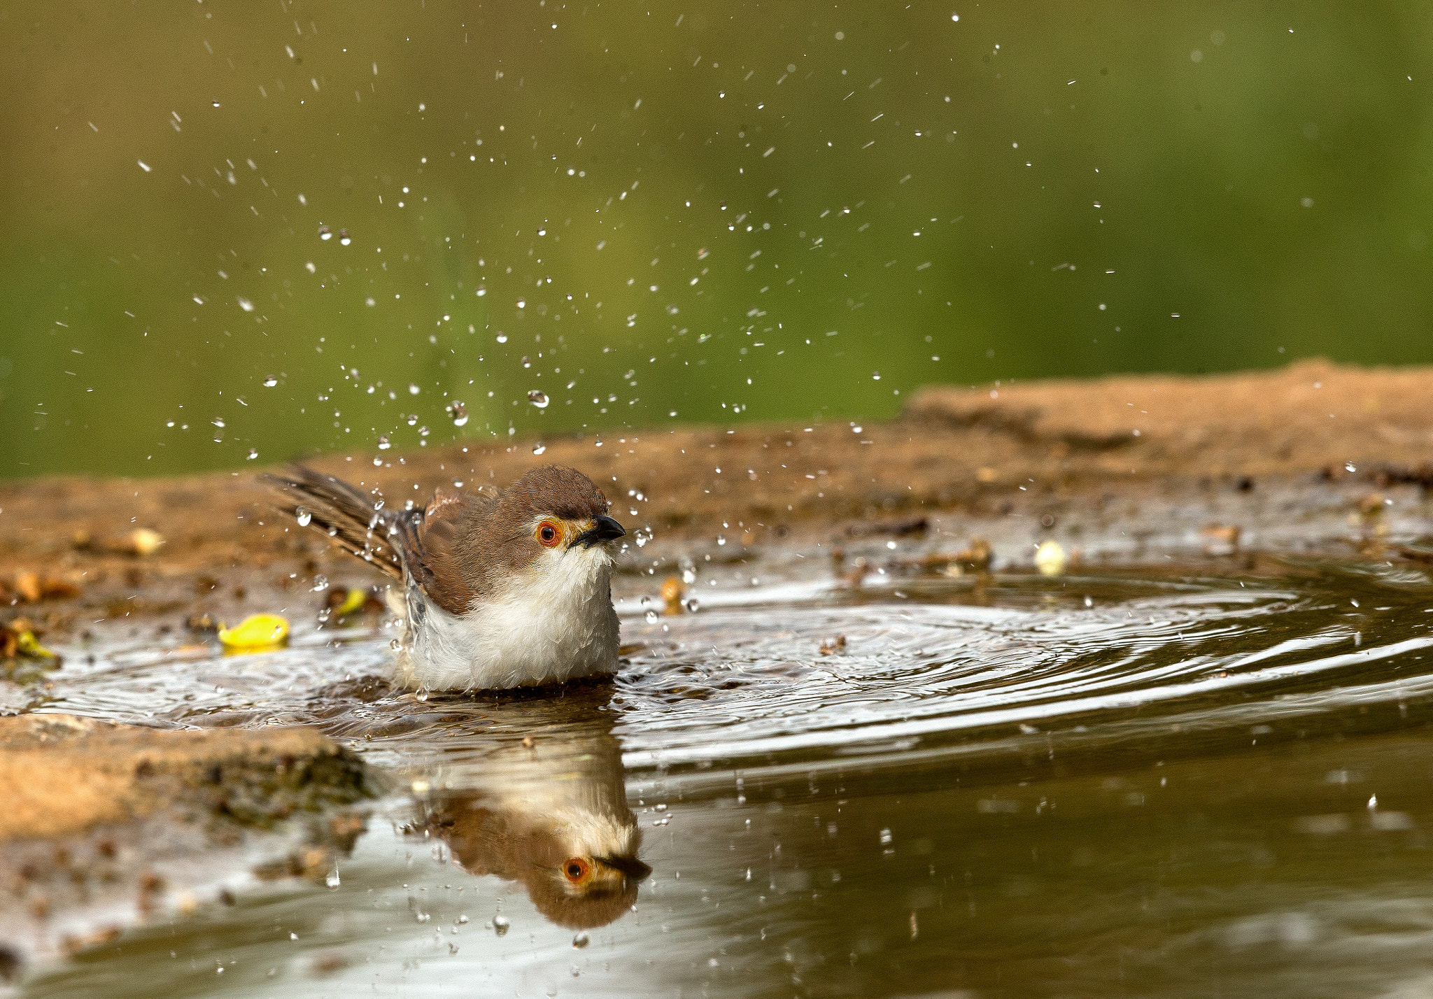
[[[562,701],[513,698],[449,742],[427,770],[410,827],[441,838],[474,876],[520,881],[537,910],[569,929],[606,926],[636,902],[652,869],[626,803],[622,747],[596,691]],[[449,735],[457,735],[451,730]],[[447,740],[444,740],[447,742]]]

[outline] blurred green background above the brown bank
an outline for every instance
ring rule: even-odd
[[[1433,361],[1430,20],[0,7],[0,476]]]

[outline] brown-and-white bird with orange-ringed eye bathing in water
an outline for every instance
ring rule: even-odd
[[[404,619],[400,684],[507,689],[616,672],[612,566],[626,530],[576,469],[532,469],[496,494],[438,489],[401,510],[301,464],[264,479],[299,525],[403,585],[390,599]]]

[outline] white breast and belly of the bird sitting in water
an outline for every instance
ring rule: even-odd
[[[398,678],[436,691],[560,684],[618,668],[612,556],[603,546],[539,558],[499,598],[449,613],[413,582]]]

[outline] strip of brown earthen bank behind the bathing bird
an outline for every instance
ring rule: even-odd
[[[473,441],[401,459],[383,453],[381,467],[368,453],[314,464],[378,487],[390,505],[421,502],[454,482],[486,489],[539,463],[570,464],[602,486],[629,527],[626,512],[636,509],[636,523],[659,540],[725,530],[751,545],[910,512],[989,519],[1092,496],[1197,503],[1211,483],[1423,486],[1433,482],[1430,393],[1433,368],[1310,361],[1209,377],[929,387],[900,419],[858,430],[685,427],[549,440],[540,457],[532,441]],[[209,596],[242,605],[251,591],[297,586],[330,558],[322,539],[269,507],[249,470],[6,482],[0,525],[0,586],[9,586],[0,601],[33,615],[21,589],[53,589],[60,599],[46,603],[40,623],[62,631],[73,622],[66,606],[133,619],[192,609]],[[136,529],[165,543],[136,555],[146,548]],[[82,595],[63,599],[66,586]]]

